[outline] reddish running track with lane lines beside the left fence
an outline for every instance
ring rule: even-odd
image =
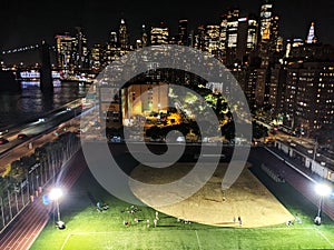
[[[86,168],[85,158],[78,151],[66,166],[60,181],[70,189]],[[1,250],[28,250],[49,220],[49,211],[42,204],[41,196],[30,203],[17,220],[0,236]]]

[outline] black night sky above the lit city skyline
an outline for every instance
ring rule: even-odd
[[[189,20],[189,28],[200,23],[218,23],[219,16],[228,7],[239,7],[242,14],[259,13],[261,0],[1,0],[0,50],[39,43],[73,27],[84,27],[89,44],[105,43],[109,33],[117,30],[125,18],[131,42],[139,38],[140,27],[167,23],[171,34],[177,32],[180,18]],[[274,13],[281,16],[281,34],[306,38],[312,21],[316,22],[316,36],[323,43],[334,44],[333,0],[274,0]]]

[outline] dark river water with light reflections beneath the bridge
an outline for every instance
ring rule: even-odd
[[[45,116],[61,106],[86,96],[89,86],[56,82],[52,94],[43,94],[38,82],[22,82],[20,93],[0,92],[0,129]]]

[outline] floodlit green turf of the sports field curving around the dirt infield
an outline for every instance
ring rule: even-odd
[[[265,179],[266,186],[293,212],[298,212],[302,224],[285,224],[259,228],[217,228],[198,223],[185,224],[176,218],[159,214],[158,227],[147,228],[146,220],[153,222],[155,210],[140,207],[140,211],[130,214],[130,204],[122,202],[97,184],[89,171],[67,194],[60,204],[62,220],[67,222],[65,230],[56,229],[53,221],[41,232],[31,250],[293,250],[293,249],[334,249],[334,223],[324,218],[322,226],[312,221],[313,204],[308,203],[287,183],[272,183]],[[294,198],[295,197],[295,198]],[[104,200],[109,209],[98,213],[95,200]],[[139,222],[135,223],[134,218]],[[124,221],[131,221],[129,227]],[[141,220],[141,221],[140,221]]]

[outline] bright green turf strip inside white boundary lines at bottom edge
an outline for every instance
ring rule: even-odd
[[[314,230],[150,230],[70,234],[63,250],[77,249],[316,249],[328,242]],[[272,239],[281,236],[279,247]],[[306,238],[303,239],[303,238]],[[282,239],[281,238],[281,239]],[[143,240],[145,239],[145,240]],[[316,241],[317,243],[314,243]],[[265,246],[264,246],[265,243]]]

